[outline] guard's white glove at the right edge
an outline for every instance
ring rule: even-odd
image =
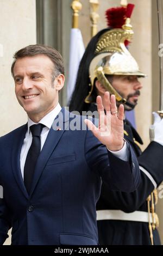
[[[163,146],[163,118],[156,112],[152,113],[154,115],[154,123],[149,127],[149,135],[151,141],[158,142]]]

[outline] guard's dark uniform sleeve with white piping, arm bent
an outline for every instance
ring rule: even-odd
[[[140,164],[140,184],[134,192],[113,192],[106,182],[102,185],[101,200],[98,209],[122,210],[133,212],[140,208],[147,197],[163,180],[163,147],[152,142],[142,155],[137,157]],[[143,167],[143,168],[142,168]],[[108,196],[109,195],[109,196]]]

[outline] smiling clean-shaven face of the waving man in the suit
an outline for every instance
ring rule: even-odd
[[[54,64],[44,54],[23,57],[14,66],[15,94],[30,119],[39,121],[58,104],[64,75],[52,79]]]

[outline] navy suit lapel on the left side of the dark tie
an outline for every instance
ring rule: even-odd
[[[26,136],[26,132],[27,132],[27,124],[23,125],[20,131],[18,131],[17,136],[15,136],[15,141],[13,143],[14,146],[12,149],[12,172],[14,173],[16,182],[20,187],[21,191],[23,192],[24,196],[26,198],[29,198],[26,187],[24,186],[24,181],[22,178],[21,168],[20,168],[20,154],[21,154],[23,140]]]

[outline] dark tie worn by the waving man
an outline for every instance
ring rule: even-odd
[[[28,150],[28,154],[26,157],[26,162],[24,164],[24,184],[27,188],[28,194],[30,193],[30,188],[32,185],[32,179],[35,171],[35,166],[37,159],[40,155],[41,151],[41,131],[45,125],[42,124],[34,124],[30,126],[30,131],[32,132],[32,144]]]

